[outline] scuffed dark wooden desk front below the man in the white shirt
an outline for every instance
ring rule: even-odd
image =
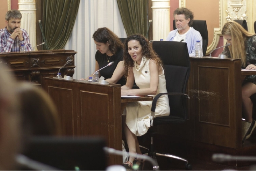
[[[240,60],[190,58],[190,62],[195,65],[189,80],[193,79],[194,84],[190,84],[189,91],[197,90],[197,95],[192,97],[198,97],[190,99],[190,103],[195,104],[195,108],[190,109],[195,117],[194,140],[242,147]]]

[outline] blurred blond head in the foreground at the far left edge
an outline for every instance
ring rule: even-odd
[[[15,96],[16,81],[0,64],[0,170],[12,170],[21,150],[21,115]]]

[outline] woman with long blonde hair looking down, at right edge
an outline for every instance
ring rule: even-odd
[[[224,24],[221,34],[230,43],[221,54],[233,59],[241,59],[242,68],[256,69],[256,35],[246,31],[240,24],[229,21]],[[244,139],[248,139],[256,124],[252,119],[252,101],[250,96],[256,93],[256,75],[247,76],[242,84],[242,110],[250,128]]]

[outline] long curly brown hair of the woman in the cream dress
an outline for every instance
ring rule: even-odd
[[[149,44],[149,40],[147,40],[147,38],[145,38],[141,34],[133,34],[126,38],[124,44],[124,76],[126,78],[128,76],[128,69],[134,66],[134,60],[132,60],[132,57],[128,53],[128,42],[130,42],[131,40],[137,40],[138,42],[140,42],[140,45],[142,47],[142,56],[145,56],[147,59],[154,60],[158,66],[163,66],[162,60],[159,58],[157,53]]]

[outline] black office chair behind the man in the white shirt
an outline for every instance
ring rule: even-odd
[[[194,20],[192,26],[195,30],[200,32],[202,36],[202,51],[205,56],[208,46],[208,29],[205,20]],[[175,20],[173,20],[173,30],[176,29]]]

